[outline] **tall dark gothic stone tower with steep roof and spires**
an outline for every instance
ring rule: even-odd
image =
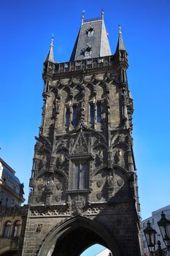
[[[23,255],[77,256],[102,244],[139,256],[133,100],[122,34],[115,54],[101,18],[84,20],[70,61],[44,63]]]

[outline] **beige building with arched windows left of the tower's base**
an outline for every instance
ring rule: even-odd
[[[0,255],[17,255],[20,251],[27,212],[20,206],[25,201],[23,194],[15,170],[0,158]]]

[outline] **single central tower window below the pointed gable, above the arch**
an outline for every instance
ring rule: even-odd
[[[74,173],[74,189],[87,189],[87,165],[76,163]]]

